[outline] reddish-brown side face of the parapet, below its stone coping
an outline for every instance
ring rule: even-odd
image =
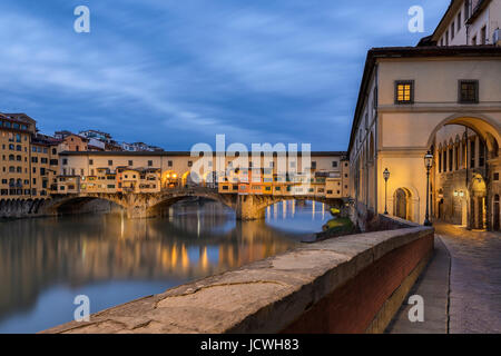
[[[433,249],[433,234],[400,247],[306,310],[285,334],[362,334],[386,299]]]

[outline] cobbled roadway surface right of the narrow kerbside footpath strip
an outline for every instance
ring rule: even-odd
[[[501,234],[434,226],[451,256],[449,332],[501,333]]]

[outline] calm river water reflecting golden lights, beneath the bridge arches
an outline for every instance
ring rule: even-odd
[[[266,220],[246,222],[214,201],[170,209],[148,220],[107,214],[0,221],[0,333],[70,322],[78,295],[96,313],[284,253],[331,218],[318,202],[281,202]]]

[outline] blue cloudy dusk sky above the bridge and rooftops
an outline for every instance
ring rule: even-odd
[[[77,6],[90,33],[76,33]],[[425,32],[407,10],[422,6]],[[449,0],[1,0],[0,112],[167,150],[345,150],[366,51],[414,46]]]

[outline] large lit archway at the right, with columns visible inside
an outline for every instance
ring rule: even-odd
[[[497,229],[500,128],[491,118],[455,115],[432,131],[432,218],[470,229]],[[499,227],[498,227],[499,229]]]

